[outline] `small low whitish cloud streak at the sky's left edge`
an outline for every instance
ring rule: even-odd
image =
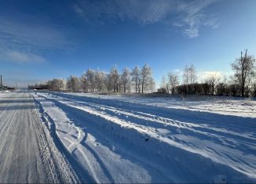
[[[5,50],[0,52],[0,61],[13,63],[45,63],[46,60],[42,56],[32,53],[24,53],[13,50]]]

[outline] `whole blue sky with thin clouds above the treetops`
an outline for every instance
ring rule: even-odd
[[[0,74],[6,85],[148,63],[159,83],[194,63],[199,79],[232,74],[256,54],[256,1],[0,0]]]

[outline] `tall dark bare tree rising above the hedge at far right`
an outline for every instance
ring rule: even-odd
[[[234,77],[240,85],[242,96],[244,96],[244,89],[245,85],[247,85],[247,79],[250,77],[250,75],[254,74],[254,63],[254,56],[248,55],[247,49],[245,50],[244,55],[243,52],[241,52],[241,56],[232,63],[232,70],[235,71]]]

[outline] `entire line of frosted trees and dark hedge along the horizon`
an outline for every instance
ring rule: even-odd
[[[170,72],[163,77],[157,93],[198,96],[256,96],[256,66],[254,56],[247,49],[240,52],[231,64],[234,74],[230,77],[209,74],[198,82],[193,64],[186,65],[180,74]],[[67,80],[52,79],[29,88],[42,88],[70,92],[155,92],[152,69],[148,64],[140,69],[124,68],[121,72],[113,66],[109,72],[88,69],[81,77],[71,75]]]

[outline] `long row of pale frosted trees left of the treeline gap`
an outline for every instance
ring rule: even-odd
[[[67,80],[54,78],[41,84],[29,85],[29,88],[49,89],[54,91],[68,90],[70,92],[153,92],[155,81],[152,69],[148,64],[140,69],[124,68],[119,72],[113,66],[109,72],[88,69],[81,77],[71,75]]]

